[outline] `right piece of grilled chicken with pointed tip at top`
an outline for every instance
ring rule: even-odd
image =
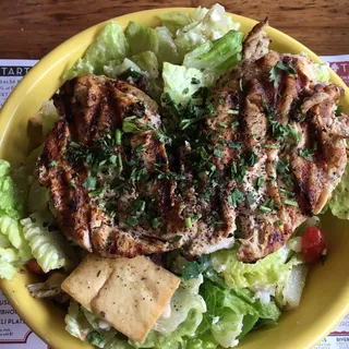
[[[217,117],[206,125],[216,137],[240,142],[217,158],[221,170],[236,168],[233,188],[250,200],[236,207],[239,260],[254,262],[276,251],[308,217],[318,214],[339,183],[347,164],[349,118],[336,116],[344,89],[315,84],[304,56],[268,51],[257,24],[243,46],[243,61],[220,79]],[[232,112],[233,111],[233,112]],[[237,123],[233,130],[216,124]],[[254,157],[245,167],[243,158]],[[245,172],[237,181],[237,174]]]

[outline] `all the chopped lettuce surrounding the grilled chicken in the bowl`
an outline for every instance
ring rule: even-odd
[[[208,88],[241,60],[243,34],[237,32],[239,24],[219,4],[209,10],[200,7],[192,15],[169,12],[159,17],[161,26],[156,28],[130,22],[123,31],[110,22],[63,80],[93,73],[135,85],[142,81],[146,84],[142,87],[161,100],[174,120],[171,122],[179,121],[173,140],[165,135],[163,140],[176,146],[176,137],[209,110]],[[316,64],[315,75],[318,82],[328,81],[327,65]],[[52,101],[44,104],[40,116],[46,135],[58,119]],[[124,120],[123,132],[137,132],[135,118]],[[170,123],[168,119],[163,121],[164,128]],[[200,146],[204,157],[205,148]],[[9,163],[0,160],[0,277],[13,278],[32,256],[46,273],[69,269],[76,262],[72,248],[52,231],[55,212],[47,189],[32,176],[41,152],[43,145],[15,173]],[[349,166],[329,203],[333,214],[346,219],[348,188]],[[65,329],[99,348],[234,347],[254,327],[276,324],[284,306],[299,304],[308,272],[299,244],[299,238],[291,239],[255,264],[238,261],[237,245],[197,262],[178,258],[172,272],[182,277],[182,282],[143,344],[130,341],[74,301],[70,302]]]

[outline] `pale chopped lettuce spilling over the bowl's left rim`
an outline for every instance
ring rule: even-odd
[[[39,111],[43,133],[49,132],[58,119],[52,101]],[[57,231],[50,231],[48,190],[34,180],[33,172],[43,146],[34,149],[24,165],[11,169],[0,160],[0,277],[12,279],[25,262],[35,257],[45,273],[76,263],[70,245]],[[26,214],[32,214],[26,218]]]

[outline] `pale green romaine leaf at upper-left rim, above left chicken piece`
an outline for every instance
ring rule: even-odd
[[[85,74],[103,74],[104,67],[115,62],[120,64],[129,53],[129,44],[123,29],[116,22],[109,22],[88,47],[85,56],[64,74],[70,80]]]

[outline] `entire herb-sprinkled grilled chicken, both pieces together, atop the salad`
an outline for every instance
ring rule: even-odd
[[[347,164],[344,91],[315,83],[306,57],[268,50],[266,25],[203,98],[209,112],[178,113],[171,145],[156,103],[135,86],[87,75],[60,88],[38,177],[67,238],[104,256],[188,258],[239,239],[239,260],[254,262],[322,210]]]

